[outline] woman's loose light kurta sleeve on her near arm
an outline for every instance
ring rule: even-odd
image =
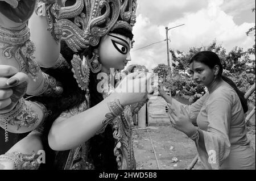
[[[201,131],[204,145],[196,142],[199,157],[207,169],[219,169],[230,153],[229,128],[234,95],[221,91],[213,93],[206,104],[208,129]]]

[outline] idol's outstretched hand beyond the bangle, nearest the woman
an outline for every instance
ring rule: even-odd
[[[148,82],[151,79],[150,73],[131,73],[127,75],[115,88],[115,94],[118,96],[123,106],[143,102],[147,99],[149,91]]]

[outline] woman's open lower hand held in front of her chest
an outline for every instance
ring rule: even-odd
[[[171,123],[175,129],[187,134],[188,137],[191,137],[196,133],[197,129],[192,124],[188,112],[183,106],[181,106],[179,109],[174,108],[174,106],[168,104],[168,107],[168,114],[172,117]]]

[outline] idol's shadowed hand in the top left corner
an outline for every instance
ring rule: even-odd
[[[32,15],[36,0],[0,0],[0,26],[20,29]]]

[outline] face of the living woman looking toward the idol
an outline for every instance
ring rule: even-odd
[[[214,80],[214,71],[209,66],[197,61],[193,61],[190,65],[190,73],[193,80],[200,86],[208,86]]]

